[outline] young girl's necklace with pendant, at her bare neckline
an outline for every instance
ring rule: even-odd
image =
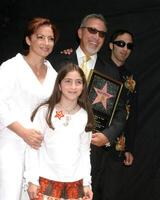
[[[75,106],[73,106],[73,108],[71,109],[66,109],[62,106],[62,104],[58,104],[57,107],[59,108],[59,112],[61,112],[62,116],[64,117],[64,122],[63,122],[63,125],[64,126],[68,126],[69,125],[69,122],[71,120],[71,115],[73,113],[75,113],[77,107],[78,107],[78,104],[76,104]]]

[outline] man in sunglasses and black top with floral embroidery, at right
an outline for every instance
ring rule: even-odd
[[[106,155],[101,163],[96,200],[123,199],[127,171],[125,166],[130,166],[133,163],[131,152],[133,152],[137,124],[136,82],[133,74],[125,67],[125,62],[133,50],[133,34],[127,30],[117,30],[111,36],[109,48],[111,55],[108,62],[119,70],[121,81],[124,84],[121,95],[125,99],[127,123],[114,145],[108,152],[105,152]]]

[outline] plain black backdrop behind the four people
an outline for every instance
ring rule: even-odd
[[[35,16],[49,17],[57,25],[60,40],[54,53],[77,46],[75,33],[86,14],[103,14],[108,35],[118,28],[134,33],[135,48],[127,66],[139,82],[138,129],[135,162],[126,169],[128,183],[123,200],[159,200],[160,0],[5,0],[0,4],[0,63],[22,50],[26,21]]]

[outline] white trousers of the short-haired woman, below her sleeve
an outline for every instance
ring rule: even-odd
[[[0,133],[0,199],[20,200],[26,144]]]

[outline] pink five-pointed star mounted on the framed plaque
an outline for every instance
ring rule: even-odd
[[[95,87],[94,87],[94,89],[97,93],[97,96],[96,96],[96,98],[95,98],[95,100],[93,101],[92,104],[100,102],[100,103],[102,103],[103,107],[105,109],[107,109],[107,100],[113,97],[112,94],[107,92],[107,83],[103,86],[102,89],[98,89],[98,88],[95,88]]]

